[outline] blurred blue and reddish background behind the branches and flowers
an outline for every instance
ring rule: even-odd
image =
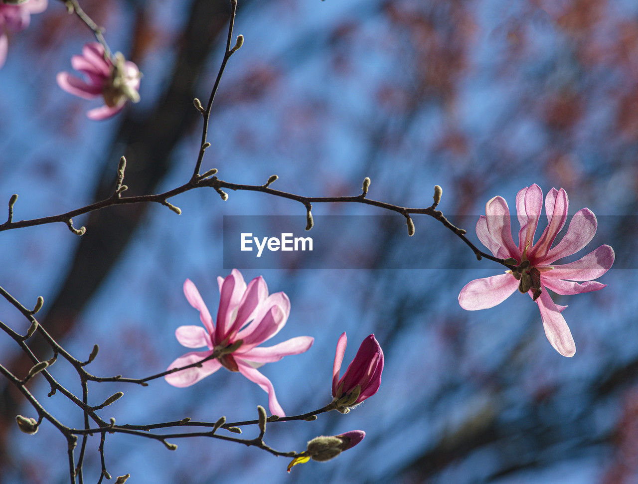
[[[98,101],[57,87],[56,73],[70,71],[71,55],[93,40],[63,3],[50,0],[29,29],[12,35],[0,70],[0,202],[19,194],[15,220],[104,198],[122,154],[127,194],[181,185],[197,158],[201,121],[192,99],[209,96],[228,3],[80,4],[106,27],[110,47],[144,72],[142,101],[93,122],[85,111]],[[315,337],[307,353],[262,369],[286,413],[330,401],[341,332],[348,333],[345,362],[370,333],[386,358],[380,391],[362,406],[270,425],[267,443],[300,451],[312,437],[352,429],[365,430],[366,439],[287,475],[287,459],[255,448],[182,439],[169,452],[156,441],[112,435],[110,474],[130,473],[131,483],[638,482],[638,4],[240,0],[235,25],[245,43],[221,82],[202,171],[218,168],[222,179],[246,184],[276,173],[278,189],[312,196],[357,194],[369,176],[371,198],[412,207],[429,206],[439,184],[440,209],[463,221],[477,245],[474,224],[489,198],[501,195],[513,207],[522,187],[563,187],[570,214],[588,207],[599,221],[598,243],[574,259],[607,243],[616,263],[599,279],[609,284],[604,290],[554,298],[569,305],[563,316],[574,358],[547,342],[527,296],[463,311],[464,284],[501,267],[472,262],[468,247],[429,217],[415,217],[410,238],[403,221],[397,230],[381,217],[372,235],[335,233],[359,247],[345,255],[366,258],[368,270],[244,270],[247,281],[263,274],[271,292],[292,301],[287,325],[269,343]],[[230,193],[222,202],[202,189],[171,202],[181,216],[140,205],[79,217],[83,237],[64,224],[1,233],[0,284],[27,307],[42,295],[40,321],[73,355],[84,359],[99,344],[94,374],[162,371],[186,352],[175,328],[198,324],[184,279],[216,312],[216,277],[230,272],[223,216],[304,215],[298,203],[259,193]],[[354,204],[315,204],[313,214],[385,215]],[[397,270],[405,260],[435,268]],[[0,317],[27,329],[4,301]],[[41,342],[34,348],[50,357]],[[0,355],[16,371],[30,366],[8,337],[0,338]],[[64,362],[52,372],[80,392]],[[31,386],[36,396],[67,425],[82,425],[77,407],[60,395],[47,399],[42,381]],[[67,482],[63,436],[50,425],[36,436],[20,433],[15,415],[33,410],[5,387],[0,382],[0,481]],[[93,385],[91,402],[117,390],[124,398],[102,414],[118,423],[244,420],[267,404],[258,386],[225,370],[189,388],[163,380],[147,388]],[[98,444],[89,440],[89,482],[98,479]]]

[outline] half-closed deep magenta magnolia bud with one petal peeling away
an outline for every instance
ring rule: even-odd
[[[337,342],[337,351],[332,366],[332,400],[341,413],[348,413],[363,400],[374,395],[381,385],[383,372],[383,350],[375,335],[369,335],[359,346],[357,356],[352,360],[343,377],[339,379],[339,370],[343,362],[348,338],[343,333]]]

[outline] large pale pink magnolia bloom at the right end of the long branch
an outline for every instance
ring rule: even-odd
[[[538,304],[545,335],[551,345],[563,356],[574,356],[574,339],[561,314],[567,306],[554,304],[547,289],[560,295],[601,290],[606,285],[591,279],[597,279],[609,270],[614,263],[614,249],[600,246],[577,261],[554,264],[585,247],[596,233],[597,221],[591,210],[579,210],[572,217],[565,237],[552,247],[556,235],[565,225],[568,208],[565,190],[553,188],[545,197],[547,228],[534,242],[542,203],[543,193],[536,184],[517,194],[516,210],[521,224],[517,246],[512,239],[507,202],[500,196],[487,202],[486,215],[480,216],[477,223],[479,240],[495,257],[514,259],[516,262],[512,261],[512,264],[517,265],[517,270],[470,281],[459,294],[459,304],[471,311],[486,309],[500,304],[517,289],[528,293]]]

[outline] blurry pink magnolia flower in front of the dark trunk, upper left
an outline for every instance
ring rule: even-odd
[[[137,66],[126,61],[117,52],[113,59],[105,55],[104,47],[98,42],[89,42],[82,48],[82,55],[71,57],[73,69],[84,73],[83,81],[68,72],[57,75],[57,84],[66,92],[84,99],[102,96],[105,106],[87,112],[90,119],[110,118],[122,109],[126,101],[137,103],[140,100],[140,77]]]

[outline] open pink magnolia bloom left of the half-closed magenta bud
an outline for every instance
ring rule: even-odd
[[[174,386],[190,386],[200,379],[216,372],[222,366],[230,371],[238,371],[255,382],[268,393],[272,414],[285,416],[279,406],[274,388],[269,379],[256,369],[263,363],[277,362],[287,355],[299,355],[312,346],[314,339],[299,336],[267,348],[259,347],[271,339],[286,324],[290,313],[290,301],[284,293],[268,295],[263,277],[255,277],[246,286],[239,270],[234,269],[226,279],[218,277],[219,309],[217,323],[204,304],[195,284],[189,279],[184,282],[184,295],[188,302],[200,312],[202,326],[179,326],[175,337],[186,348],[202,348],[182,355],[170,363],[169,370],[197,363],[217,351],[219,356],[202,363],[201,367],[177,371],[165,376]]]

